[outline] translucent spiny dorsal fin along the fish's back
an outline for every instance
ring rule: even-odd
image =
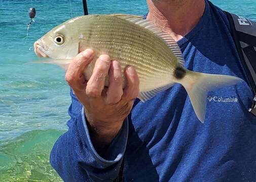
[[[158,26],[156,26],[153,22],[151,22],[150,20],[143,19],[142,16],[125,15],[125,14],[114,14],[112,16],[115,16],[115,17],[121,18],[121,19],[125,19],[132,23],[140,25],[140,26],[152,31],[159,37],[161,37],[162,40],[171,49],[172,53],[178,58],[179,63],[181,65],[184,65],[185,60],[184,60],[184,57],[182,56],[182,53],[180,51],[180,48],[179,48],[177,42],[172,38],[172,36],[170,34],[163,32],[163,30],[161,28],[159,28]]]

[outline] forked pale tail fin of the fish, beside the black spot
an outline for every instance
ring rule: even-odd
[[[208,91],[234,85],[239,81],[243,80],[235,76],[206,74],[187,70],[186,76],[177,82],[187,90],[198,119],[204,123]]]

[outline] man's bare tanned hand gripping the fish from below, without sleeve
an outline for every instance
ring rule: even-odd
[[[135,69],[128,66],[125,71],[126,86],[122,88],[122,69],[118,61],[101,55],[87,81],[83,71],[94,58],[92,50],[81,52],[70,63],[65,79],[83,104],[92,142],[105,146],[112,142],[131,111],[133,101],[139,93],[139,79]],[[104,86],[109,76],[108,88]]]

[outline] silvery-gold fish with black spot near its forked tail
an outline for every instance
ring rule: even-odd
[[[36,55],[52,59],[43,63],[56,64],[64,69],[86,49],[92,49],[95,53],[95,58],[83,72],[86,80],[90,79],[97,58],[107,54],[121,64],[123,72],[128,65],[135,67],[139,77],[138,98],[142,102],[173,84],[184,86],[202,123],[206,115],[207,92],[243,81],[236,76],[186,69],[177,42],[141,16],[79,16],[56,26],[34,43]],[[125,84],[123,74],[123,88]],[[105,86],[108,86],[108,77]]]

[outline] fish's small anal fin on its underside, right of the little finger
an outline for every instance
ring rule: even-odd
[[[170,88],[173,84],[175,84],[174,82],[169,83],[167,85],[164,85],[162,87],[147,91],[147,92],[140,92],[138,99],[142,102],[148,101],[151,98],[155,97],[157,94],[163,92],[164,90],[167,90],[168,88]]]

